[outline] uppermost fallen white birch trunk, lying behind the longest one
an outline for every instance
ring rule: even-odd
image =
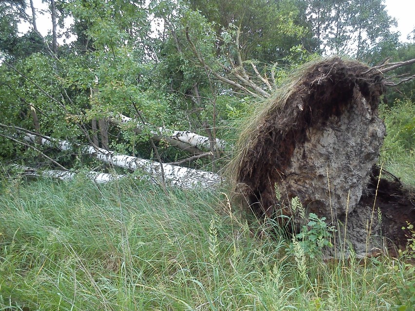
[[[142,122],[133,120],[132,118],[127,117],[123,114],[119,114],[116,119],[124,124],[127,124],[129,122],[135,122],[137,124],[137,128],[143,127]],[[179,142],[189,144],[190,146],[197,147],[199,149],[210,150],[209,137],[202,136],[190,131],[170,130],[167,128],[160,127],[157,130],[151,130],[151,134],[166,136]],[[217,151],[225,150],[225,141],[216,138],[215,148]]]

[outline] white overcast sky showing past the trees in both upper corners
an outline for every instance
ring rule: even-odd
[[[52,28],[52,21],[49,14],[41,15],[42,10],[47,9],[46,3],[41,0],[33,0],[35,7],[38,9],[37,26],[40,33],[45,36]],[[396,18],[398,27],[393,30],[398,30],[401,33],[400,41],[405,42],[407,36],[415,28],[415,0],[384,0],[386,10],[389,15]],[[31,11],[27,12],[31,15]],[[21,27],[21,31],[27,31],[29,25]],[[62,40],[60,40],[62,42]]]

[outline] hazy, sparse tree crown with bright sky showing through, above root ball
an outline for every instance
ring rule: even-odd
[[[324,51],[369,61],[379,47],[397,44],[396,24],[382,0],[297,0],[304,20]],[[389,55],[388,55],[389,56]]]

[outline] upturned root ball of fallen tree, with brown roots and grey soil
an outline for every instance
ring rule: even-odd
[[[280,90],[241,134],[238,189],[258,215],[283,214],[294,225],[300,222],[289,208],[294,197],[333,223],[366,215],[368,206],[359,202],[374,195],[368,185],[385,136],[377,113],[382,74],[332,57],[306,64]],[[355,235],[350,232],[351,243],[360,249]]]

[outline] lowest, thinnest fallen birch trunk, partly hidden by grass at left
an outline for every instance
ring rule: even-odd
[[[38,170],[28,166],[21,166],[21,165],[13,165],[17,169],[21,169],[24,171],[26,176],[42,176],[42,177],[52,177],[57,178],[63,181],[71,181],[75,178],[75,172],[63,171],[59,169],[47,169],[47,170]],[[116,179],[124,178],[127,175],[114,175],[108,173],[99,173],[94,171],[89,171],[85,174],[85,176],[95,182],[95,183],[108,183],[112,182]]]

